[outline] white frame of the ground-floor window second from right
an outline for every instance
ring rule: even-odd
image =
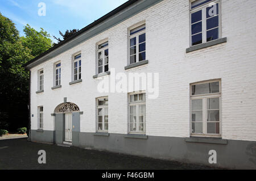
[[[139,94],[144,94],[144,100],[140,101],[136,101],[136,102],[131,102],[130,101],[130,96],[131,95],[136,95],[138,94],[138,98],[139,98]],[[129,102],[129,122],[128,122],[128,132],[130,134],[146,134],[146,93],[143,91],[143,92],[133,92],[133,93],[130,93],[128,94],[128,102]],[[139,131],[139,106],[141,105],[145,105],[145,113],[144,113],[144,122],[143,122],[143,128],[144,128],[144,131]],[[131,106],[136,106],[136,131],[131,131],[131,127],[130,127],[130,124],[131,124]]]

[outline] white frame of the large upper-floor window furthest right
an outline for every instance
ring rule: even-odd
[[[190,46],[191,47],[196,46],[196,45],[192,45],[191,15],[194,12],[202,10],[202,20],[201,20],[201,22],[202,22],[202,32],[193,34],[193,36],[194,36],[194,35],[202,33],[202,43],[201,44],[210,42],[210,41],[207,41],[207,31],[210,31],[210,30],[213,30],[213,29],[217,28],[217,27],[214,27],[212,29],[207,30],[207,24],[206,24],[207,23],[207,19],[213,17],[212,16],[212,17],[207,18],[207,14],[206,14],[206,9],[207,9],[207,7],[209,7],[210,3],[218,3],[218,39],[221,39],[221,37],[222,37],[222,31],[221,31],[222,30],[222,28],[221,28],[221,0],[215,0],[215,1],[207,2],[204,5],[200,5],[198,7],[195,7],[195,9],[193,9],[193,10],[191,9],[191,3],[189,3],[189,5],[190,5],[190,8],[189,8],[190,9],[190,13],[189,13],[189,30],[190,30],[190,38],[189,38],[189,40],[190,40]],[[196,23],[199,23],[199,22],[195,22],[193,24],[196,24]],[[216,40],[218,40],[218,39],[216,39]],[[200,45],[200,44],[197,44],[197,45]]]

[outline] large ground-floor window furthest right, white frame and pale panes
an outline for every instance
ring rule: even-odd
[[[221,82],[191,85],[191,134],[221,136]]]

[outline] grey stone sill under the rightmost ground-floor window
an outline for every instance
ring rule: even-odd
[[[185,142],[198,142],[204,144],[221,144],[228,145],[228,140],[222,138],[208,138],[208,137],[189,137],[185,138]]]

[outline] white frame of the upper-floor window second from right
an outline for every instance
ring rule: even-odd
[[[139,32],[137,32],[137,33],[134,33],[133,35],[130,35],[130,32],[131,32],[131,30],[134,30],[135,28],[138,28],[138,27],[141,27],[141,26],[144,26],[145,27],[145,29],[144,30],[142,30],[142,31],[139,31]],[[135,27],[133,27],[133,28],[129,28],[129,47],[128,47],[128,65],[131,65],[131,61],[130,61],[130,57],[131,57],[131,54],[130,54],[130,48],[131,48],[131,45],[130,45],[130,40],[131,39],[133,39],[134,37],[136,37],[136,45],[134,45],[134,46],[136,46],[136,62],[134,62],[133,64],[136,64],[136,63],[138,63],[139,62],[139,53],[143,53],[143,52],[147,52],[147,49],[145,48],[145,50],[143,51],[143,52],[139,52],[139,44],[142,44],[142,43],[146,43],[146,39],[145,39],[145,41],[143,41],[142,43],[139,43],[139,35],[142,35],[142,34],[146,34],[146,23],[143,23],[143,24],[139,24],[138,26],[135,26]],[[134,47],[133,46],[133,47]],[[133,54],[133,56],[134,56],[134,54]],[[146,53],[146,56],[147,56],[147,53]],[[146,58],[146,56],[145,56],[145,60],[147,60],[147,58]],[[142,61],[145,61],[145,60],[142,60]],[[141,62],[142,62],[141,61]]]

